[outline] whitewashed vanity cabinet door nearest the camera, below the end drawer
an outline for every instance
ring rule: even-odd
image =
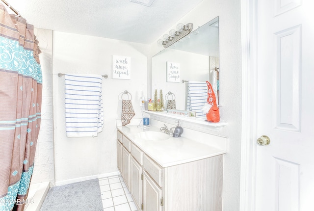
[[[143,209],[144,211],[162,211],[161,188],[143,171]]]

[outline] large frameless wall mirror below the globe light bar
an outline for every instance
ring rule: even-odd
[[[164,97],[170,91],[175,95],[176,108],[186,110],[188,81],[209,81],[219,104],[218,23],[216,17],[203,26],[194,26],[188,35],[152,57],[152,96],[156,89],[158,93],[161,89]],[[173,69],[178,71],[171,74]]]

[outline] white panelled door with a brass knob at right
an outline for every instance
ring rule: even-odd
[[[314,1],[257,2],[256,211],[312,211]]]

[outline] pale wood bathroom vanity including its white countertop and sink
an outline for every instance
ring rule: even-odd
[[[158,127],[118,126],[118,169],[138,210],[221,211],[227,138],[215,139],[211,145]]]

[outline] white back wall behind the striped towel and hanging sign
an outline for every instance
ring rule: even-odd
[[[55,181],[71,181],[117,172],[116,119],[121,119],[121,93],[132,94],[133,118],[141,118],[139,99],[147,96],[149,46],[100,37],[53,33],[53,119]],[[111,79],[112,55],[131,57],[131,80]],[[103,79],[105,124],[94,138],[68,138],[65,132],[64,77],[58,73],[107,74]],[[124,98],[126,99],[126,98]]]

